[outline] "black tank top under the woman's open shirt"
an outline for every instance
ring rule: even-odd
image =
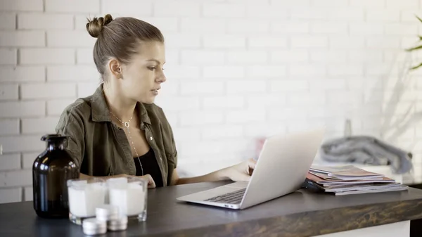
[[[151,177],[153,177],[156,187],[163,186],[160,167],[158,166],[158,162],[155,158],[155,153],[152,148],[150,148],[150,150],[148,150],[145,155],[139,156],[139,159],[134,158],[134,162],[136,166],[136,176],[149,174]],[[139,162],[142,164],[142,169],[141,165],[139,165]]]

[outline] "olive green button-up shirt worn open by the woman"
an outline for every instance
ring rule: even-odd
[[[172,128],[158,105],[137,103],[140,123],[154,150],[163,185],[170,185],[177,166]],[[60,115],[58,134],[68,136],[65,150],[76,160],[82,174],[110,176],[136,174],[132,150],[124,130],[111,122],[103,84],[94,94],[78,98]]]

